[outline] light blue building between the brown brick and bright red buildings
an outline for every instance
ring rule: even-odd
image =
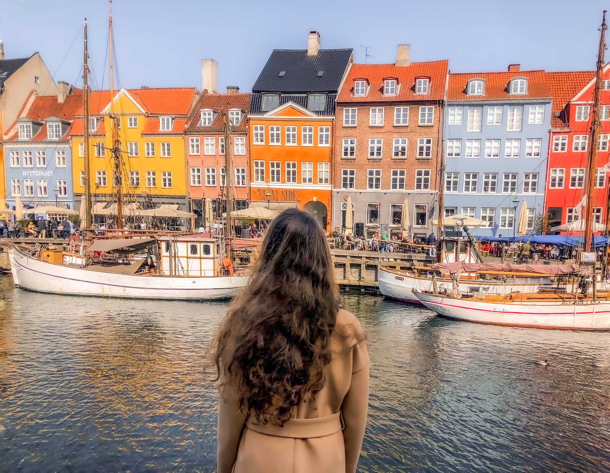
[[[534,232],[544,213],[551,113],[544,71],[450,74],[443,215],[491,222],[475,235],[512,237],[525,200]]]

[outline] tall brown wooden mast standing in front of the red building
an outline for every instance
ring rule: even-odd
[[[592,251],[593,241],[593,205],[595,201],[595,178],[597,177],[597,140],[600,134],[600,102],[601,102],[601,79],[604,69],[604,48],[606,35],[606,10],[604,10],[603,21],[600,26],[600,51],[597,56],[597,75],[595,76],[595,89],[593,110],[591,113],[591,128],[589,130],[589,153],[587,154],[587,207],[584,218],[584,251]],[[608,219],[608,216],[606,216]]]

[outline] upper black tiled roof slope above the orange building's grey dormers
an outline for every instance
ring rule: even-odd
[[[351,54],[351,49],[320,49],[315,56],[308,56],[307,49],[274,49],[252,91],[335,93]],[[282,71],[285,74],[280,77]],[[320,71],[323,74],[318,76]]]

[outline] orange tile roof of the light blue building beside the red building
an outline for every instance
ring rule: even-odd
[[[528,93],[509,94],[508,84],[514,77],[526,77],[528,80]],[[485,95],[468,95],[466,86],[470,79],[483,79],[485,81]],[[467,73],[449,74],[447,86],[447,100],[498,100],[515,98],[550,98],[544,71],[511,71],[501,73]]]

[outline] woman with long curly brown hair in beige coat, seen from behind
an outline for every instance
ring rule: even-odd
[[[361,325],[315,219],[285,210],[220,327],[218,473],[353,473],[368,408]]]

